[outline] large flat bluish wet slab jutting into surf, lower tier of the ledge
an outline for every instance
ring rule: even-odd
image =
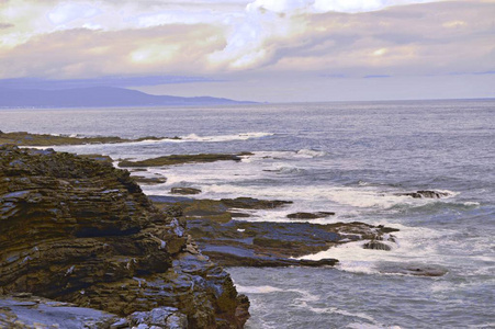
[[[225,266],[331,265],[337,260],[294,258],[348,241],[372,239],[378,229],[363,223],[218,223],[206,218],[190,219],[188,227],[202,252]]]

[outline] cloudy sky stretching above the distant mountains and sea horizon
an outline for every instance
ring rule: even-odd
[[[495,97],[495,0],[0,0],[0,87]]]

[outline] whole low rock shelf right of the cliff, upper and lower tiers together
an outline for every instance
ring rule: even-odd
[[[224,266],[333,266],[336,259],[318,261],[301,259],[351,241],[383,241],[395,243],[393,231],[398,229],[364,223],[273,223],[245,222],[238,211],[274,209],[290,201],[236,197],[223,200],[193,200],[187,197],[150,196],[167,212],[182,216],[188,230],[203,254]],[[306,217],[307,213],[303,213]],[[318,213],[316,216],[331,216]],[[313,215],[313,214],[311,214]],[[390,250],[385,247],[368,249]],[[363,247],[367,248],[367,247]]]

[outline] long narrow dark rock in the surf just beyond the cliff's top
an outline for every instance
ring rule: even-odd
[[[123,160],[119,162],[119,167],[124,168],[162,167],[162,166],[198,163],[198,162],[240,161],[241,157],[247,155],[249,154],[241,152],[237,155],[223,155],[223,154],[171,155],[153,159],[146,159],[142,161]]]

